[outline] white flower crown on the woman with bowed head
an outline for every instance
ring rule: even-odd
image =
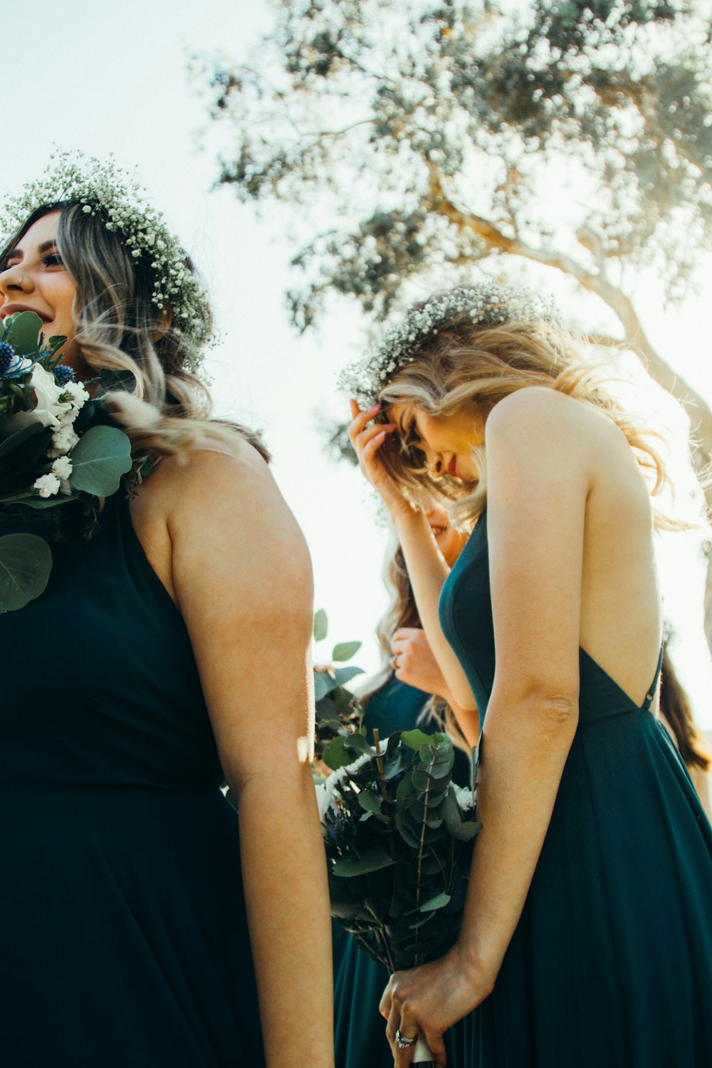
[[[426,339],[464,319],[484,326],[558,323],[553,302],[525,289],[489,281],[459,285],[414,304],[402,319],[386,330],[378,345],[341,373],[339,388],[354,397],[362,408],[370,406],[385,383],[413,362]]]

